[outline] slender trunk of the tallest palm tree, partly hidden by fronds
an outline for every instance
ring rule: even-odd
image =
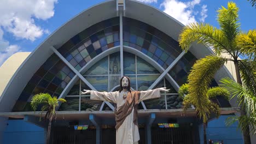
[[[241,80],[241,75],[240,75],[240,69],[238,65],[238,61],[234,61],[235,64],[235,70],[236,70],[236,80],[237,83],[240,83],[242,85],[242,80]],[[243,100],[241,101],[241,116],[246,116],[246,110],[245,107],[243,106],[244,102]],[[251,144],[251,137],[250,137],[250,131],[249,131],[249,125],[246,125],[246,130],[243,131],[243,140],[245,141],[245,144]]]

